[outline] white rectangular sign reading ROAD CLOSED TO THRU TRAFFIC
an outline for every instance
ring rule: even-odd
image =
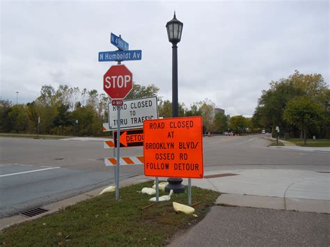
[[[117,107],[109,104],[109,129],[116,130],[118,117]],[[120,129],[139,129],[143,121],[157,119],[157,97],[124,100],[120,106]]]

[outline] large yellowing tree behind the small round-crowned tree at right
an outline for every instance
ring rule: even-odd
[[[252,122],[256,127],[269,129],[272,127],[273,133],[278,126],[283,132],[297,133],[297,127],[290,125],[283,118],[283,111],[288,102],[295,97],[307,96],[322,109],[327,108],[327,83],[321,74],[300,74],[297,70],[287,79],[272,81],[269,90],[263,90],[262,96],[258,99],[256,111],[253,114]],[[325,110],[324,110],[325,111]],[[325,112],[324,112],[325,113]],[[323,131],[327,129],[327,122],[320,124]]]

